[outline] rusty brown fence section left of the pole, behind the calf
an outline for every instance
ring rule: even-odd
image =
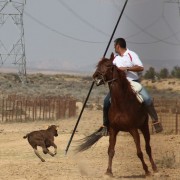
[[[26,97],[8,95],[0,100],[1,122],[57,120],[76,115],[76,100],[69,96]]]

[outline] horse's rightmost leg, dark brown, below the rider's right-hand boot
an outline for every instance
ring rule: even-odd
[[[144,139],[145,139],[145,146],[146,146],[146,153],[149,156],[149,160],[151,162],[151,166],[154,172],[157,172],[157,166],[154,163],[154,160],[152,158],[152,152],[151,152],[151,146],[150,146],[150,133],[149,133],[149,126],[148,126],[148,121],[144,123],[142,128],[140,128]]]

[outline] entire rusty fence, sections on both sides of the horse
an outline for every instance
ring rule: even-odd
[[[102,110],[100,98],[96,98],[96,108]],[[159,121],[165,134],[180,134],[180,100],[154,99]],[[101,106],[101,108],[100,108]],[[0,122],[27,122],[37,120],[57,120],[76,116],[76,100],[70,96],[27,97],[8,95],[0,99]],[[154,128],[149,120],[151,133]]]

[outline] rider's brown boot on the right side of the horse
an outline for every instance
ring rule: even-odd
[[[159,133],[163,130],[161,123],[158,121],[158,115],[156,113],[156,110],[154,108],[154,104],[150,104],[146,106],[148,114],[151,116],[152,124],[154,126],[154,129],[156,133]]]

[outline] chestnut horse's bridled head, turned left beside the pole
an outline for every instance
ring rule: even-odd
[[[113,77],[113,59],[114,54],[111,54],[110,59],[102,58],[96,68],[95,73],[93,74],[93,79],[96,82],[96,85],[105,84],[107,81],[112,80]]]

